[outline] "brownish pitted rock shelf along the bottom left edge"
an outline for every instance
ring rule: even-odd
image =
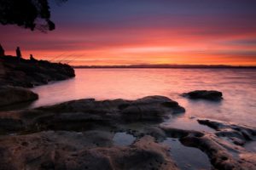
[[[168,148],[150,136],[131,146],[105,142],[97,147],[93,133],[44,132],[0,139],[0,169],[177,169]]]

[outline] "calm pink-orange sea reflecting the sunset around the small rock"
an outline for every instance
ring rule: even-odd
[[[164,95],[186,109],[172,125],[191,127],[189,117],[256,127],[256,69],[76,69],[76,77],[33,88],[40,99],[28,107],[72,99],[138,99]],[[191,90],[219,90],[221,102],[184,99]],[[192,123],[193,124],[193,123]],[[195,127],[196,128],[196,127]]]

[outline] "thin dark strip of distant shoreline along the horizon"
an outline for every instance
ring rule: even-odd
[[[256,69],[235,65],[73,65],[75,69]]]

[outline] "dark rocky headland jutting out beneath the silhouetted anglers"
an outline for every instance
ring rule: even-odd
[[[37,59],[0,57],[0,107],[38,99],[27,88],[75,77],[70,65]]]

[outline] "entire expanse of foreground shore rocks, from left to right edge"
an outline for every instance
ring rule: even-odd
[[[79,99],[0,116],[0,169],[179,169],[166,138],[204,152],[212,169],[255,169],[246,150],[256,128],[198,119],[212,133],[164,125],[185,109],[164,96],[96,101]],[[134,138],[115,144],[116,133]]]

